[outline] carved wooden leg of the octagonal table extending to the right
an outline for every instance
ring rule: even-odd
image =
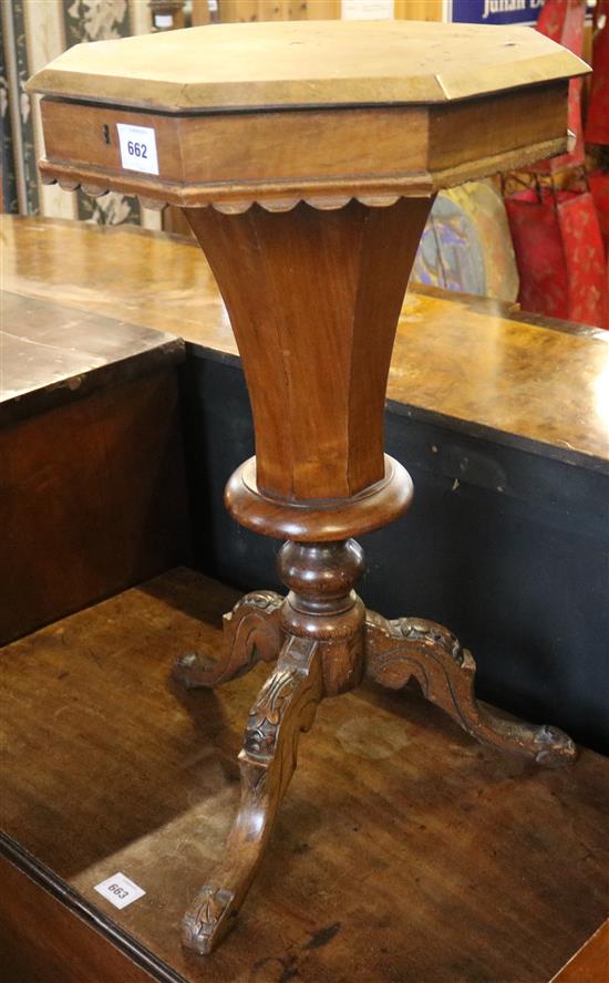
[[[427,700],[441,706],[472,737],[541,765],[566,765],[577,751],[558,727],[508,721],[478,704],[474,694],[476,663],[445,628],[420,618],[388,621],[369,611],[367,673],[391,690],[415,679]]]

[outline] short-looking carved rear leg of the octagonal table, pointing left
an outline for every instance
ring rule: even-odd
[[[283,643],[279,609],[283,598],[271,590],[246,594],[224,615],[223,658],[186,652],[178,659],[173,676],[186,689],[218,686],[245,675],[257,662],[272,662]]]

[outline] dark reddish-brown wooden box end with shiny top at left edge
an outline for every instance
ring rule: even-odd
[[[0,292],[0,644],[190,556],[183,344]]]

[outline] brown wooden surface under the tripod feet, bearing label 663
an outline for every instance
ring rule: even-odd
[[[321,704],[234,933],[182,950],[268,666],[215,693],[169,672],[235,598],[178,569],[3,650],[4,831],[190,983],[551,979],[607,914],[609,762],[538,769],[372,686]],[[122,911],[93,890],[117,871],[146,891]]]

